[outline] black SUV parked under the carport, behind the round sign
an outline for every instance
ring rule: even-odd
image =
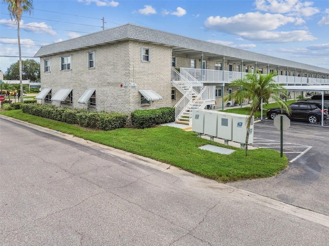
[[[274,119],[278,114],[285,114],[290,119],[304,120],[304,121],[308,121],[311,124],[320,121],[322,115],[324,120],[328,118],[327,109],[324,109],[322,111],[321,104],[318,103],[310,103],[308,101],[298,101],[296,103],[290,104],[289,107],[291,110],[290,115],[288,115],[285,110],[282,110],[281,113],[280,108],[272,108],[267,110],[266,116],[269,119]]]

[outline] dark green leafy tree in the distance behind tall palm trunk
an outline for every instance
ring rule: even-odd
[[[7,68],[4,74],[6,80],[19,80],[20,79],[20,61],[17,60]],[[40,63],[33,59],[22,60],[22,79],[29,79],[31,81],[40,80]]]

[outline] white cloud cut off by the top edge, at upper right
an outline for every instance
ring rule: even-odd
[[[254,3],[257,10],[306,17],[320,12],[313,4],[301,0],[256,0]]]

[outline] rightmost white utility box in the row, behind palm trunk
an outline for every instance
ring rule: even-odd
[[[248,117],[249,117],[249,115],[241,115],[241,114],[233,115],[232,141],[240,142],[241,144],[245,144],[246,135],[247,135],[247,119],[248,119]],[[254,117],[252,117],[251,122],[250,122],[248,144],[253,143],[253,120],[254,120]]]

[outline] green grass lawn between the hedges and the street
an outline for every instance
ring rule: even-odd
[[[21,110],[2,111],[1,114],[159,160],[218,182],[270,177],[288,165],[288,159],[280,157],[280,153],[274,150],[248,150],[246,157],[244,149],[224,146],[199,138],[194,132],[173,127],[95,131],[25,114]],[[224,155],[198,149],[207,144],[234,149],[235,152]]]

